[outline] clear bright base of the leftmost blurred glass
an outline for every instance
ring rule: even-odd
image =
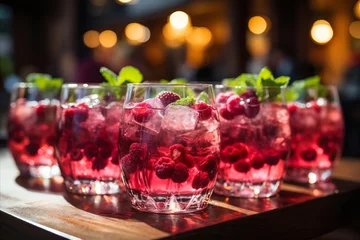
[[[21,176],[38,177],[38,178],[52,178],[61,176],[60,169],[57,165],[28,165],[16,162]]]

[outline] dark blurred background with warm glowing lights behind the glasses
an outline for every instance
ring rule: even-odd
[[[344,155],[360,157],[360,0],[0,0],[1,141],[28,73],[101,82],[100,66],[125,65],[148,81],[319,74],[340,88]]]

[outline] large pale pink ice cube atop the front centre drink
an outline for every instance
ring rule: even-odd
[[[168,131],[192,131],[198,122],[198,111],[181,105],[169,105],[165,110],[161,128]]]

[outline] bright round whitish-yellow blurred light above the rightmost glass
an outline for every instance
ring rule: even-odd
[[[325,44],[331,40],[334,35],[329,22],[317,20],[311,27],[311,38],[318,44]]]

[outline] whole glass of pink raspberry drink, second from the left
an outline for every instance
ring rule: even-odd
[[[126,86],[63,85],[57,158],[69,192],[119,192],[117,139],[125,93]]]

